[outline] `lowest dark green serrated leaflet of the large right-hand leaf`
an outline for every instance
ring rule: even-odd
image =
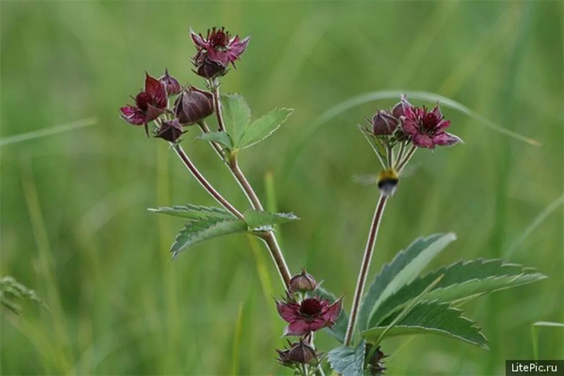
[[[456,338],[487,349],[488,340],[474,321],[462,315],[460,309],[452,308],[448,303],[422,302],[399,320],[387,331],[386,337],[413,334],[438,334]],[[362,335],[369,342],[376,340],[393,321],[395,315],[389,316],[380,326],[363,331]]]

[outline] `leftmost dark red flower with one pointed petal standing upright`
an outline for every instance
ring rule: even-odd
[[[126,105],[120,111],[122,119],[133,125],[144,125],[145,132],[149,135],[148,123],[161,116],[165,109],[165,86],[146,73],[145,90],[137,94],[135,105]]]

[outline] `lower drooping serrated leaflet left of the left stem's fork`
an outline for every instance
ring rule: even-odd
[[[202,241],[238,232],[247,232],[247,225],[240,219],[202,218],[193,220],[180,231],[170,248],[175,258],[180,251]]]

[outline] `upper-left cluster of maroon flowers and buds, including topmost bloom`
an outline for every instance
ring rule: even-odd
[[[213,28],[206,38],[191,32],[197,52],[193,58],[197,74],[215,78],[227,73],[228,64],[234,64],[245,51],[249,37],[230,37],[224,28]],[[175,100],[171,105],[171,99]],[[214,113],[210,92],[195,86],[180,86],[168,70],[160,78],[145,75],[145,86],[135,97],[134,105],[120,108],[121,118],[133,125],[143,125],[149,135],[149,123],[155,122],[154,135],[170,143],[177,143],[184,133],[183,126],[197,124]]]

